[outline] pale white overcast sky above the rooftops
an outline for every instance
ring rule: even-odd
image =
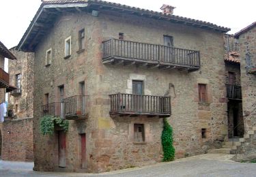
[[[212,22],[231,28],[233,34],[256,20],[256,1],[253,0],[108,0],[134,7],[160,12],[162,4],[175,8],[174,14]],[[8,48],[18,44],[25,33],[35,12],[40,7],[40,0],[1,0],[0,2],[0,41]]]

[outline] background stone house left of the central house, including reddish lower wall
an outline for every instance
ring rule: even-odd
[[[8,63],[10,84],[16,87],[8,95],[8,110],[4,129],[8,129],[8,141],[3,144],[3,159],[8,161],[33,161],[33,53],[10,51],[16,60]],[[26,137],[26,138],[24,138]]]

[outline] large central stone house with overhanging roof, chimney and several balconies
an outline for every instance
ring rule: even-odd
[[[34,170],[104,172],[161,161],[164,117],[176,158],[227,140],[229,29],[162,10],[42,1],[17,46],[35,53]],[[45,114],[68,120],[68,131],[42,135]]]

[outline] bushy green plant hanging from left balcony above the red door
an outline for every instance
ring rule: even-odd
[[[55,116],[43,116],[40,120],[40,131],[43,135],[53,135],[54,126],[57,125],[65,132],[68,131],[68,120]]]

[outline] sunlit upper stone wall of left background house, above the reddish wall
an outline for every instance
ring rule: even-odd
[[[10,84],[16,86],[16,74],[21,74],[21,93],[9,94],[10,109],[16,118],[33,117],[33,62],[34,54],[10,50],[17,60],[9,61]]]

